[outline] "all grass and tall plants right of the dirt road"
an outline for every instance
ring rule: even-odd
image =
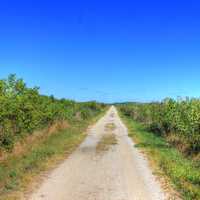
[[[136,147],[183,199],[200,199],[200,100],[118,105]]]

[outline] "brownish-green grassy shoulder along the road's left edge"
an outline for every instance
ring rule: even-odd
[[[67,129],[31,144],[23,154],[10,156],[1,162],[0,199],[23,199],[24,192],[37,186],[44,172],[54,168],[75,150],[85,138],[87,127],[104,113],[87,121],[76,121]]]

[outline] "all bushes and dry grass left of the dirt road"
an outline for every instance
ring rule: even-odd
[[[80,144],[105,109],[41,95],[15,75],[0,80],[0,199],[20,199],[39,172]]]

